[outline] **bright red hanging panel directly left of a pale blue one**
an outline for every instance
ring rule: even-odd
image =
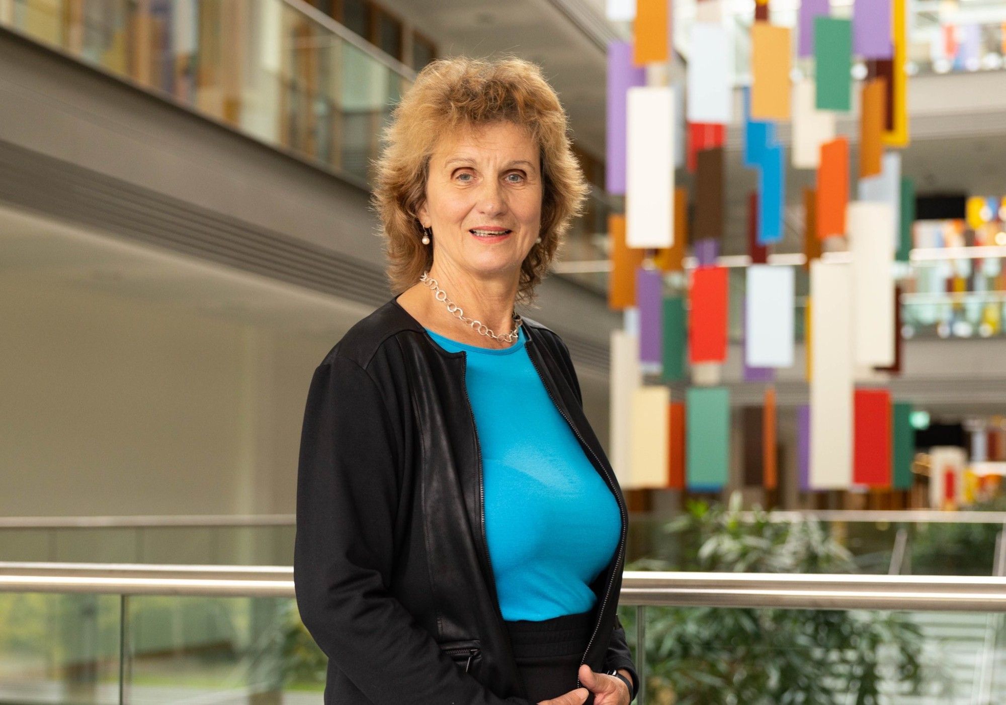
[[[725,267],[696,267],[688,292],[688,360],[726,360],[727,278]]]

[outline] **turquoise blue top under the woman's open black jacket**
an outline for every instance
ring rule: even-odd
[[[486,540],[503,619],[548,620],[594,609],[591,582],[619,542],[622,518],[524,349],[458,342],[482,449]]]

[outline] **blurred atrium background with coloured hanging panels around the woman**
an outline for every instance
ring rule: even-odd
[[[835,41],[804,44],[816,17]],[[593,187],[522,312],[629,504],[637,702],[1006,702],[1006,2],[0,0],[0,703],[321,702],[290,573],[308,383],[391,296],[390,110],[502,52]],[[647,168],[657,227],[627,209]],[[878,279],[822,283],[881,231]]]

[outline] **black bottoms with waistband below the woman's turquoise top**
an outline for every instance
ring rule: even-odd
[[[586,651],[594,611],[534,622],[505,622],[527,698],[550,700],[576,688],[579,660]],[[594,705],[591,693],[584,705]]]

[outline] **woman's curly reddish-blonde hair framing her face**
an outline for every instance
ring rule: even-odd
[[[385,273],[397,295],[433,264],[421,242],[417,213],[426,199],[430,157],[442,135],[507,121],[528,131],[541,157],[541,243],[521,263],[517,302],[534,301],[573,217],[581,215],[590,185],[573,156],[566,114],[537,64],[507,55],[497,60],[455,56],[427,64],[391,112],[384,151],[375,161],[371,205],[386,238]]]

